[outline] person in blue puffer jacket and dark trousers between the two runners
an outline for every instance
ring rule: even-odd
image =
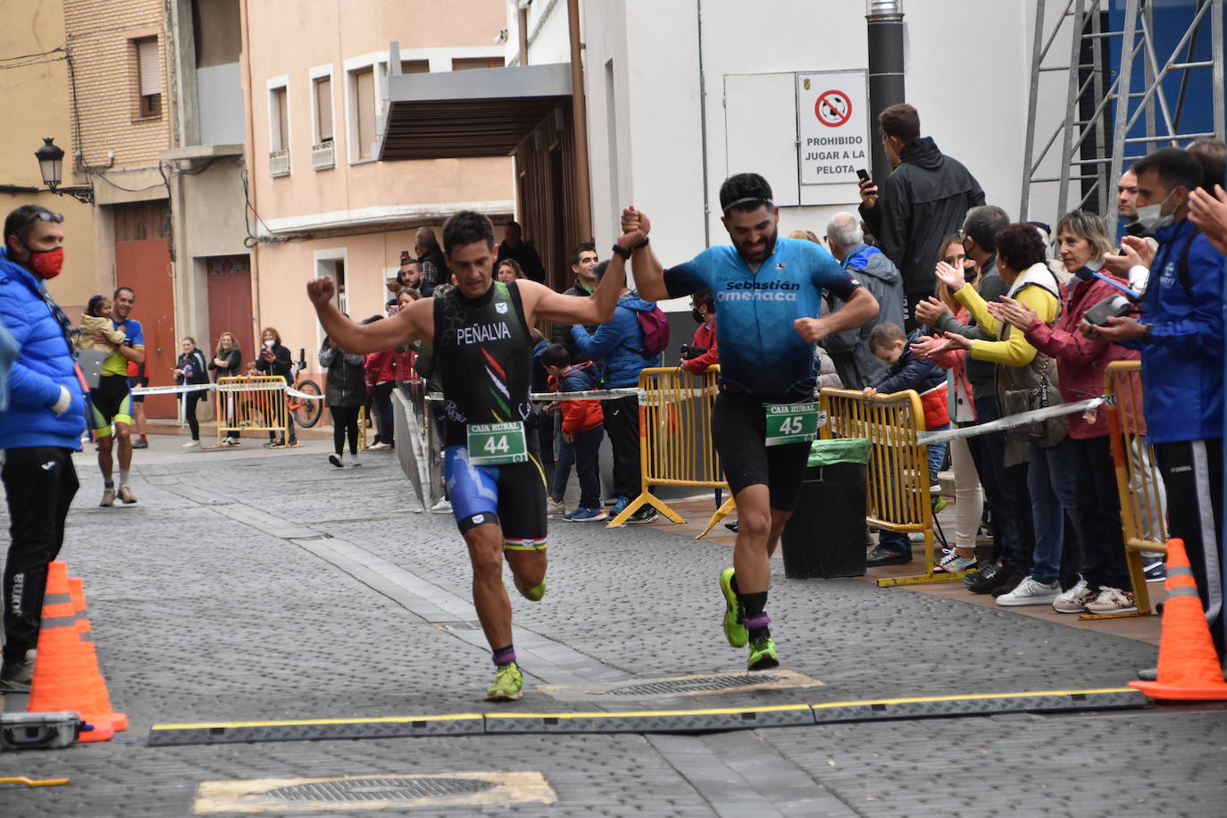
[[[605,272],[607,261],[593,267],[598,281]],[[633,289],[623,289],[614,310],[614,320],[601,324],[589,334],[583,326],[571,327],[571,337],[579,352],[591,359],[604,359],[601,378],[605,389],[625,389],[639,385],[639,373],[648,367],[659,367],[660,356],[644,357],[643,327],[639,313],[656,308],[655,302],[639,298]],[[614,451],[614,494],[617,502],[610,516],[617,516],[639,494],[639,399],[633,395],[601,402],[605,412],[605,433]],[[645,505],[627,522],[650,522],[656,510]]]

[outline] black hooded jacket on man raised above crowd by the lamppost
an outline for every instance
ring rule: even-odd
[[[962,227],[971,207],[983,204],[975,177],[923,136],[903,146],[899,166],[879,186],[877,206],[861,204],[860,216],[903,273],[903,292],[931,293],[942,237]]]

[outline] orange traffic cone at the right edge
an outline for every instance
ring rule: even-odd
[[[1158,679],[1130,682],[1151,699],[1227,700],[1227,682],[1210,640],[1183,540],[1167,542],[1167,602],[1158,644]]]

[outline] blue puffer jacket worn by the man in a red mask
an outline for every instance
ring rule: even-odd
[[[9,410],[0,415],[0,449],[81,448],[81,383],[65,330],[44,292],[43,281],[0,248],[0,323],[18,346],[9,370]],[[56,415],[52,407],[60,400],[60,386],[69,390],[72,403]]]

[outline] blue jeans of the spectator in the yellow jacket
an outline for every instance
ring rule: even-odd
[[[1074,520],[1079,540],[1086,542],[1077,514],[1077,456],[1072,438],[1065,438],[1050,449],[1040,449],[1032,443],[1027,451],[1031,461],[1027,487],[1031,489],[1031,516],[1036,527],[1031,578],[1050,585],[1061,575],[1066,514]]]

